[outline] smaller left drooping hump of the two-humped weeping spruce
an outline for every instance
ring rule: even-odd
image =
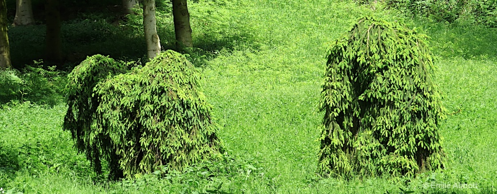
[[[95,129],[95,112],[100,105],[100,99],[94,95],[93,90],[99,81],[125,72],[124,65],[111,58],[95,55],[84,60],[68,75],[66,90],[69,108],[63,129],[71,131],[76,147],[86,154],[86,158],[99,174],[102,169],[102,154],[104,159],[112,160],[115,157],[108,156],[115,151],[108,135]],[[110,171],[111,174],[122,174],[115,166],[110,166]]]

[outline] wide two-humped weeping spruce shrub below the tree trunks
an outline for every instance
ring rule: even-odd
[[[101,168],[100,161],[105,159],[111,178],[132,177],[163,167],[181,171],[200,160],[221,156],[218,126],[212,122],[211,105],[198,86],[200,74],[184,56],[166,51],[143,67],[114,74],[89,80],[94,87],[85,91],[92,98],[83,98],[95,109],[72,104],[91,125],[67,128],[95,167]],[[70,96],[69,102],[79,98]],[[68,115],[72,116],[69,111]],[[65,123],[75,124],[68,117]]]

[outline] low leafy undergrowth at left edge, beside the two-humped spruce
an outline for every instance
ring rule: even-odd
[[[0,70],[0,103],[31,101],[55,105],[62,99],[66,79],[55,66],[44,69],[40,62],[26,66],[21,71]]]

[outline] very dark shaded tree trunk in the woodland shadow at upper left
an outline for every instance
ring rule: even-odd
[[[45,14],[47,23],[46,61],[62,65],[61,16],[59,0],[46,0]]]

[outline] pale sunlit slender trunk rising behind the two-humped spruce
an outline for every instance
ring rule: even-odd
[[[157,34],[155,0],[143,0],[143,31],[147,43],[147,57],[155,58],[161,52],[161,41]]]

